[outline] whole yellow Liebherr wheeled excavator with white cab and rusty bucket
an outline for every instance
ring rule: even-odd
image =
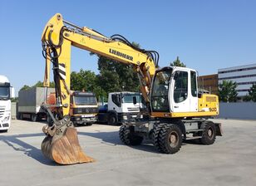
[[[118,34],[105,37],[88,27],[78,27],[57,13],[42,32],[44,86],[50,84],[52,63],[57,100],[56,105],[42,105],[53,120],[52,125],[42,129],[47,135],[42,141],[42,153],[57,164],[94,161],[82,151],[70,120],[71,47],[128,64],[137,72],[150,117],[121,125],[119,135],[124,144],[136,145],[145,138],[152,139],[160,152],[173,154],[183,139],[213,144],[216,135],[222,135],[221,125],[207,120],[219,114],[218,96],[199,92],[196,71],[177,66],[159,68],[158,52],[134,47]],[[116,99],[118,105],[121,99]],[[133,101],[136,103],[135,97]],[[57,118],[49,109],[52,106],[57,107]]]

